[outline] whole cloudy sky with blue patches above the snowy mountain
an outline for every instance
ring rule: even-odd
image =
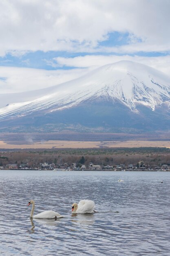
[[[169,0],[0,0],[0,93],[136,61],[170,76]]]

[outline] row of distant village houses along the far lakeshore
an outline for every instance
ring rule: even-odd
[[[49,170],[49,171],[170,171],[170,165],[160,164],[158,166],[145,165],[142,161],[137,165],[134,164],[115,164],[110,165],[97,165],[93,163],[77,164],[73,163],[69,166],[65,164],[48,164],[40,163],[38,166],[29,166],[28,164],[6,164],[0,166],[0,169],[5,170]]]

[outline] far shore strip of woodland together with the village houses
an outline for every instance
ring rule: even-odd
[[[8,149],[1,150],[0,168],[169,171],[170,148]]]

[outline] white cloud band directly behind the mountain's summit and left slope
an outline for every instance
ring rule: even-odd
[[[136,61],[154,67],[170,75],[170,55],[159,57],[143,56],[103,56],[86,55],[74,58],[58,57],[53,60],[54,65],[75,67],[71,70],[40,70],[20,67],[0,66],[0,94],[12,92],[26,92],[48,88],[53,85],[76,79],[87,72],[121,60]]]

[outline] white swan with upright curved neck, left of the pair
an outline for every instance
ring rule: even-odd
[[[30,218],[56,219],[56,218],[62,218],[63,217],[55,211],[43,211],[43,212],[38,213],[38,214],[33,216],[33,212],[34,212],[34,208],[35,208],[35,201],[34,200],[29,201],[27,206],[29,206],[30,204],[32,204],[32,210],[31,210]]]

